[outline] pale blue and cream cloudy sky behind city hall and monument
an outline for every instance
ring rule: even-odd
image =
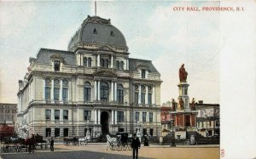
[[[161,103],[178,97],[178,69],[189,76],[189,98],[219,103],[219,14],[177,12],[174,7],[218,2],[100,1],[96,14],[125,36],[130,57],[152,60],[161,74]],[[0,2],[0,102],[17,103],[29,57],[39,48],[67,50],[94,2]]]

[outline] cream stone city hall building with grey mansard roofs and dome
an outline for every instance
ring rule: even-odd
[[[19,81],[17,133],[159,136],[160,72],[129,54],[122,32],[98,16],[83,21],[67,51],[41,48]]]

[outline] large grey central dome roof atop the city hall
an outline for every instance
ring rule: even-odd
[[[79,31],[72,37],[68,50],[72,50],[81,43],[96,43],[127,49],[125,37],[119,29],[112,26],[110,20],[98,16],[86,18]]]

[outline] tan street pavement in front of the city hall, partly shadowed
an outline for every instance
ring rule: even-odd
[[[132,158],[131,150],[106,150],[106,144],[90,145],[55,145],[55,151],[35,150],[34,154],[29,154],[25,150],[21,152],[2,153],[3,159],[126,159]],[[169,145],[142,146],[139,150],[139,158],[160,158],[160,159],[218,159],[218,145],[196,145],[170,147]]]

